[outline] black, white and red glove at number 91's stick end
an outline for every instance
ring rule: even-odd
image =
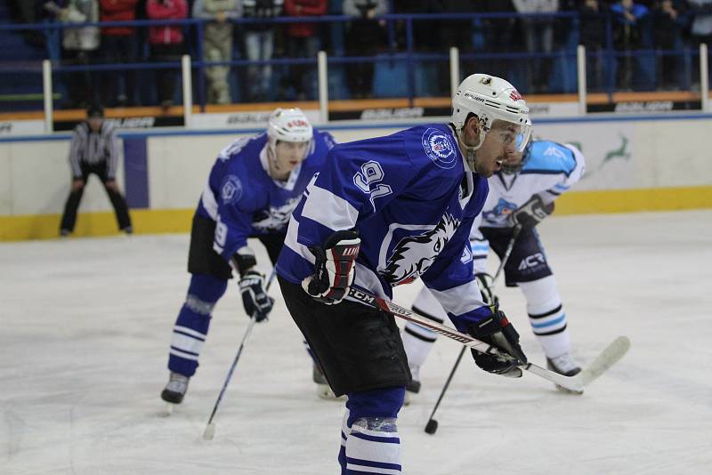
[[[336,231],[323,247],[309,248],[314,254],[314,275],[302,281],[307,294],[331,305],[344,300],[353,283],[353,266],[361,240],[356,229]]]

